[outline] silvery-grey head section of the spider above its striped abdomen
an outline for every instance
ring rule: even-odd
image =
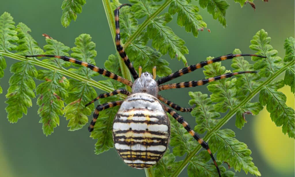
[[[157,97],[158,85],[151,73],[145,72],[132,85],[132,93],[147,93]]]

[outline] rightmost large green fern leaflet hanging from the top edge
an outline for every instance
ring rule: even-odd
[[[204,9],[207,8],[209,14],[212,14],[213,19],[218,21],[225,27],[225,13],[226,9],[230,6],[225,0],[199,0],[200,6]]]

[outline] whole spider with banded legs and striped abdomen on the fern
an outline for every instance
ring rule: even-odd
[[[151,74],[148,72],[142,73],[142,68],[139,67],[139,74],[137,74],[127,54],[125,53],[124,48],[120,44],[119,9],[123,6],[131,5],[122,4],[114,11],[116,26],[115,40],[117,51],[119,52],[124,63],[127,65],[130,73],[132,74],[132,77],[134,78],[133,83],[132,81],[129,81],[103,68],[99,68],[92,64],[67,56],[28,55],[26,57],[60,58],[65,61],[83,65],[93,71],[100,73],[101,75],[112,78],[127,86],[132,87],[132,92],[129,92],[125,89],[118,89],[110,93],[100,94],[91,102],[85,105],[88,106],[94,103],[94,101],[101,98],[106,98],[108,96],[113,96],[117,94],[127,95],[127,98],[125,100],[113,101],[98,105],[94,111],[93,119],[88,127],[88,130],[89,132],[91,132],[94,129],[94,125],[100,111],[121,105],[114,118],[113,140],[115,148],[117,149],[119,155],[129,166],[139,169],[149,168],[155,165],[162,158],[170,141],[170,122],[166,114],[166,112],[168,112],[174,119],[176,119],[177,122],[183,125],[183,127],[189,132],[189,134],[193,136],[194,139],[196,139],[203,148],[208,151],[216,166],[218,175],[219,177],[221,177],[219,167],[213,157],[211,150],[209,149],[209,145],[207,144],[207,142],[202,140],[202,138],[197,135],[194,130],[191,129],[191,127],[183,119],[183,117],[173,110],[175,109],[181,112],[191,112],[194,106],[191,108],[183,108],[163,98],[158,94],[158,92],[168,89],[201,86],[212,81],[229,78],[242,73],[256,73],[256,71],[226,73],[220,76],[202,79],[199,81],[188,81],[161,85],[163,83],[171,81],[174,78],[182,76],[186,73],[190,73],[196,69],[204,67],[205,65],[209,65],[218,61],[232,59],[240,56],[257,56],[262,58],[266,57],[252,54],[228,54],[214,58],[212,60],[203,61],[195,65],[190,65],[166,77],[160,78],[158,81],[155,81],[156,68],[153,68],[153,74]],[[163,101],[163,103],[167,104],[173,109],[169,108],[160,101]]]

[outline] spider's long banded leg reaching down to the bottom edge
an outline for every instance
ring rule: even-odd
[[[162,104],[163,105],[163,104]],[[196,134],[196,132],[194,132],[194,130],[191,130],[191,127],[189,126],[189,124],[183,119],[183,117],[179,114],[177,114],[175,111],[173,111],[172,109],[168,108],[167,106],[163,105],[165,111],[167,111],[174,119],[177,120],[177,122],[179,122],[180,124],[183,125],[183,127],[186,129],[186,131],[189,132],[189,134],[191,134],[191,136],[193,136],[198,142],[199,144],[208,151],[208,153],[210,154],[213,162],[214,162],[214,165],[216,166],[216,169],[217,169],[217,172],[218,172],[218,175],[219,177],[221,177],[221,174],[220,174],[220,170],[219,170],[219,167],[212,155],[212,152],[211,150],[209,149],[209,145],[207,142],[205,142],[201,137],[199,137],[199,135]]]

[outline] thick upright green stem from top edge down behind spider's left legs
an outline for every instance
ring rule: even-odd
[[[107,21],[109,23],[109,27],[110,27],[112,38],[113,38],[113,42],[114,42],[114,46],[115,46],[115,49],[116,49],[117,48],[116,47],[116,42],[115,42],[116,26],[115,26],[114,11],[112,10],[111,2],[109,0],[102,0],[102,4],[104,6],[104,11],[106,12],[106,19],[107,19]],[[117,57],[119,59],[119,64],[120,64],[120,68],[121,68],[123,77],[126,78],[126,79],[128,79],[129,81],[132,81],[132,78],[131,78],[131,74],[129,72],[129,69],[127,68],[127,66],[123,62],[123,60],[120,57],[120,55],[119,55],[118,52],[117,52]],[[130,86],[126,86],[126,89],[128,91],[131,91]]]

